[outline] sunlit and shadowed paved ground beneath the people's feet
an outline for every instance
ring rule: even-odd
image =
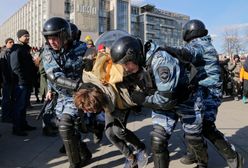
[[[67,157],[59,153],[62,142],[59,137],[45,137],[41,132],[41,121],[36,121],[35,116],[39,112],[40,104],[33,104],[28,111],[28,120],[38,130],[29,132],[27,137],[18,137],[11,134],[12,125],[0,123],[0,168],[67,168]],[[219,108],[217,127],[226,135],[239,152],[248,159],[248,104],[242,101],[225,100]],[[128,128],[133,130],[138,137],[145,142],[150,150],[151,119],[150,112],[141,115],[132,114],[129,117]],[[104,136],[101,145],[92,143],[92,135],[83,135],[93,153],[91,163],[87,168],[122,168],[125,161],[121,153],[111,145]],[[227,167],[225,161],[216,153],[211,144],[209,146],[209,168]],[[177,126],[170,139],[171,151],[170,168],[191,168],[180,163],[185,146],[182,130]],[[149,159],[148,168],[153,167],[152,159]],[[245,164],[248,168],[248,164]]]

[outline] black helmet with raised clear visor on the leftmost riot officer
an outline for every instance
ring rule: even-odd
[[[52,17],[43,25],[43,36],[47,39],[48,36],[58,36],[63,44],[71,40],[71,26],[63,18]]]

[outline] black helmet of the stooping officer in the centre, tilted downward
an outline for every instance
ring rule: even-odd
[[[123,36],[115,41],[111,46],[110,55],[114,63],[125,64],[132,61],[139,66],[145,64],[142,42],[132,36]]]

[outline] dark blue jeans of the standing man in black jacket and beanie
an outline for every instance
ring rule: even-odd
[[[13,128],[22,129],[26,124],[27,103],[30,88],[25,85],[17,85],[14,89],[13,102]]]

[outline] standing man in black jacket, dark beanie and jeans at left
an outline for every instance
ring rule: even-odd
[[[26,120],[27,105],[34,76],[34,63],[30,54],[29,32],[21,29],[17,32],[18,44],[13,46],[10,54],[10,65],[13,72],[13,134],[27,136],[26,131],[35,130]]]

